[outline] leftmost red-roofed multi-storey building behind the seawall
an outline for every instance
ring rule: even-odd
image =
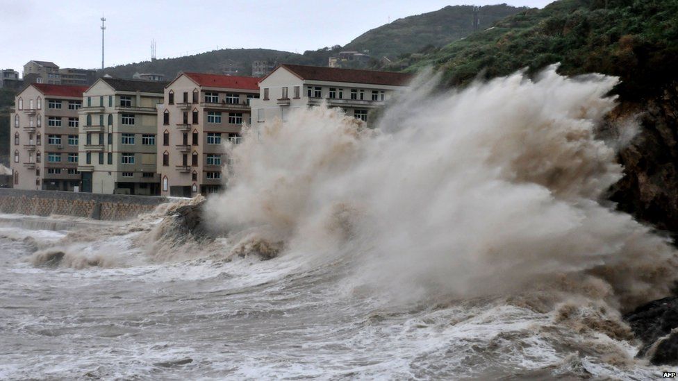
[[[87,87],[33,83],[11,115],[14,187],[72,191],[78,173],[78,109]]]

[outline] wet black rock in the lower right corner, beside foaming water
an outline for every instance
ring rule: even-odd
[[[666,337],[674,328],[678,328],[678,297],[653,300],[626,314],[624,320],[643,347],[638,357],[650,357],[652,364],[678,364],[678,335]],[[656,345],[655,345],[656,344]],[[652,347],[655,348],[652,348]]]

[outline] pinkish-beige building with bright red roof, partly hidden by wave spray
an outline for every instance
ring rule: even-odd
[[[259,78],[183,73],[158,105],[158,173],[163,196],[217,192],[226,163],[222,143],[239,142]],[[161,115],[161,116],[160,116]],[[160,159],[161,158],[161,159]]]

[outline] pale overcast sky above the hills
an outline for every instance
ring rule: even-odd
[[[0,0],[0,68],[21,73],[29,60],[60,67],[101,67],[101,15],[106,66],[223,48],[303,53],[344,45],[401,17],[448,5],[543,8],[553,0]]]

